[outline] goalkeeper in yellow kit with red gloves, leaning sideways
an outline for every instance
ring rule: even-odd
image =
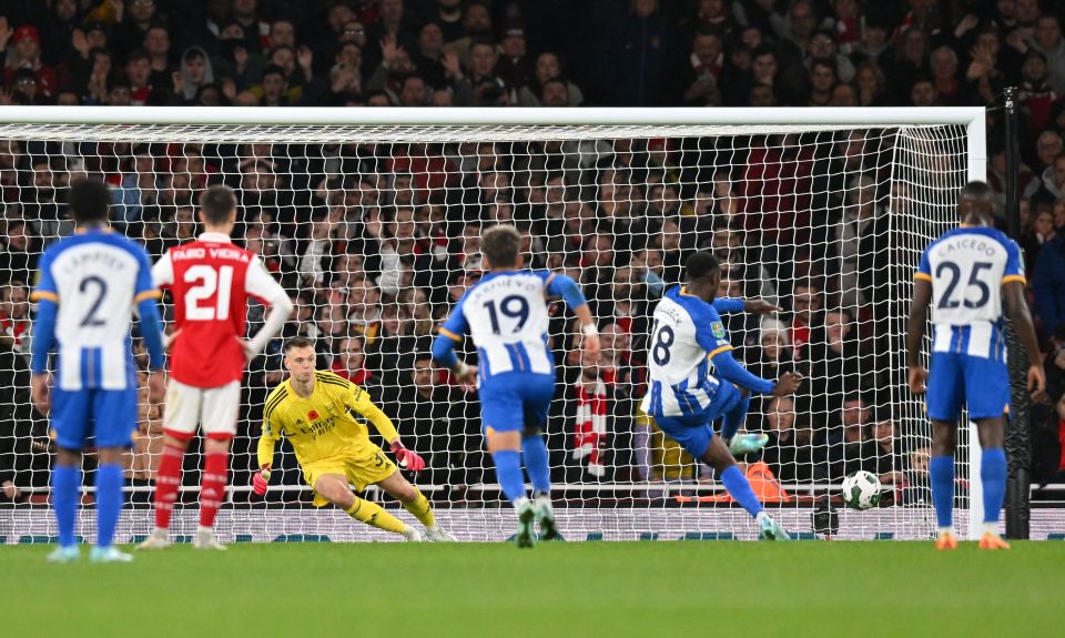
[[[293,337],[285,343],[288,381],[266,397],[263,435],[258,439],[258,472],[252,478],[255,494],[266,494],[274,444],[284,434],[292,443],[307,484],[314,488],[314,505],[332,503],[348,516],[378,529],[402,534],[407,540],[455,540],[437,525],[429,502],[396,472],[396,465],[369,440],[367,427],[353,412],[366,417],[390,444],[392,452],[407,468],[425,468],[422,457],[399,443],[399,434],[366,391],[332,372],[315,371],[314,342]],[[425,526],[425,535],[388,514],[375,503],[363,500],[349,484],[362,492],[378,485],[403,504]]]

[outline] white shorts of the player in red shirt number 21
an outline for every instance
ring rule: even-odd
[[[233,438],[240,409],[239,381],[219,387],[193,387],[171,378],[166,387],[163,432],[189,439],[196,435],[196,425],[203,424],[203,434],[207,438]]]

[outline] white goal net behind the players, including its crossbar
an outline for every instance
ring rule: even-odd
[[[429,352],[443,317],[484,274],[479,234],[495,223],[523,232],[529,265],[580,282],[602,334],[601,361],[582,361],[572,308],[551,302],[558,374],[546,436],[567,538],[755,535],[718,477],[639,411],[649,316],[699,249],[723,264],[721,296],[784,308],[724,318],[738,358],[768,378],[808,378],[793,398],[751,404],[746,429],[770,436],[762,453],[740,458],[755,493],[800,537],[932,534],[931,428],[905,387],[904,314],[921,251],[955,223],[957,190],[982,174],[982,111],[907,110],[900,120],[893,110],[840,110],[811,120],[775,110],[758,123],[768,111],[545,110],[511,123],[517,117],[499,111],[414,110],[375,114],[377,124],[361,124],[371,115],[359,110],[221,112],[0,112],[0,474],[20,493],[0,509],[0,541],[54,535],[45,508],[54,447],[29,402],[26,298],[41,250],[72,231],[64,198],[83,174],[111,185],[114,227],[154,259],[196,236],[205,186],[236,189],[234,240],[262,255],[296,305],[283,336],[313,337],[320,368],[368,388],[425,457],[428,468],[409,477],[462,539],[506,538],[513,513],[484,452],[476,394],[453,385]],[[263,315],[250,308],[252,331]],[[135,327],[134,337],[143,352]],[[246,487],[264,399],[284,379],[281,344],[244,378],[220,537],[382,539],[312,507],[285,444],[267,497]],[[151,530],[161,411],[141,405],[125,539]],[[961,438],[955,507],[965,529],[978,499],[970,499]],[[85,463],[88,505],[91,454]],[[179,536],[194,530],[201,467],[193,444]],[[883,486],[879,506],[863,512],[843,507],[839,487],[861,469]],[[397,505],[373,488],[367,497]],[[79,529],[91,536],[91,517]]]

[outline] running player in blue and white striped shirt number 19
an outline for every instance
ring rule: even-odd
[[[433,357],[473,384],[478,368],[454,352],[467,332],[477,346],[481,428],[504,494],[518,512],[518,547],[532,546],[534,518],[540,538],[558,538],[550,500],[550,466],[540,433],[555,396],[555,357],[547,343],[547,296],[560,296],[577,315],[587,361],[599,355],[599,333],[585,295],[572,279],[549,271],[524,271],[521,235],[514,226],[485,231],[480,241],[481,277],[452,308]],[[521,455],[532,483],[535,503],[525,493]]]

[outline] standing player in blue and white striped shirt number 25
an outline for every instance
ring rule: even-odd
[[[954,447],[962,402],[980,434],[980,480],[984,488],[982,549],[1008,549],[998,537],[998,513],[1006,490],[1003,450],[1005,417],[1010,413],[1010,374],[1003,301],[1028,361],[1028,389],[1033,397],[1046,386],[1039,365],[1039,344],[1024,298],[1021,250],[996,231],[991,186],[970,182],[957,198],[961,227],[947,231],[921,255],[914,274],[913,303],[906,326],[906,363],[910,389],[927,389],[932,419],[932,502],[939,521],[936,547],[954,549]],[[932,375],[921,365],[921,341],[929,304],[932,304]],[[927,382],[927,388],[925,388]]]

